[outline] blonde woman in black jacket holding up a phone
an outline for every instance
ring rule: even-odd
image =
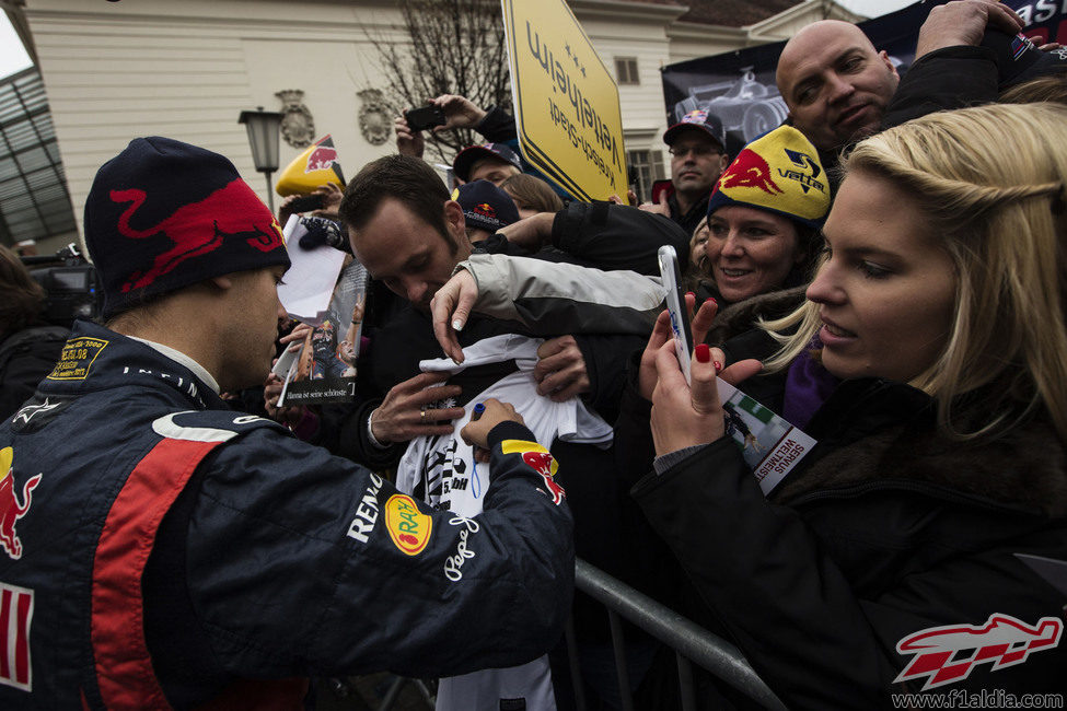
[[[819,445],[764,497],[723,438],[726,353],[697,348],[691,389],[661,318],[634,496],[790,709],[1063,693],[1067,601],[1014,553],[1067,559],[1067,108],[933,114],[845,168],[767,374],[721,372]]]

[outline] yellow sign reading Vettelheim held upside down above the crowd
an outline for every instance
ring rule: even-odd
[[[576,198],[625,199],[618,88],[564,0],[501,0],[523,158]]]

